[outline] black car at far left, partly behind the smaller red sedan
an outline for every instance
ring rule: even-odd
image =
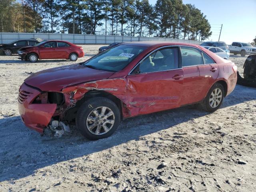
[[[16,40],[11,43],[1,44],[0,50],[4,52],[5,55],[10,56],[11,54],[17,54],[18,50],[25,46],[34,46],[35,44],[39,43],[40,41],[34,38],[31,39],[23,39],[23,40]]]

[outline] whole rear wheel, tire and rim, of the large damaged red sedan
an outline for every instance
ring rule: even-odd
[[[222,84],[216,83],[210,88],[206,98],[204,98],[204,101],[201,103],[202,108],[207,112],[214,112],[220,108],[223,99],[224,88]]]

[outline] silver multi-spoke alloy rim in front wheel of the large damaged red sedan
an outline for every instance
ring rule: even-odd
[[[93,109],[87,119],[87,129],[95,135],[102,135],[111,130],[115,122],[114,112],[105,106]]]

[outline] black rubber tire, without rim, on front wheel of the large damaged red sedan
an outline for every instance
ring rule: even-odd
[[[92,115],[94,115],[95,113],[93,113],[93,111],[95,110],[99,110],[100,107],[106,107],[106,115],[108,115],[107,112],[108,109],[112,110],[112,113],[114,114],[113,116],[110,116],[110,118],[112,118],[112,120],[114,119],[114,123],[112,124],[108,124],[108,126],[110,127],[108,132],[105,132],[105,128],[103,128],[104,124],[106,125],[106,120],[105,123],[102,122],[104,120],[104,118],[102,118],[103,116],[101,116],[102,114],[100,114],[100,117],[98,120],[94,121],[87,121],[87,119]],[[98,111],[99,112],[99,111]],[[102,113],[102,111],[100,112]],[[96,116],[94,117],[95,119]],[[100,121],[101,119],[101,121]],[[101,122],[101,123],[99,123]],[[91,124],[89,124],[91,123]],[[97,124],[98,123],[98,124]],[[89,126],[93,125],[91,129],[91,131],[88,129]],[[103,124],[103,125],[102,125]],[[102,139],[102,138],[106,138],[109,137],[110,135],[112,135],[115,130],[118,128],[120,124],[120,110],[118,108],[118,106],[116,106],[116,104],[114,102],[112,102],[112,100],[109,100],[108,98],[104,98],[104,97],[95,97],[95,98],[91,98],[86,100],[78,109],[78,112],[76,114],[76,126],[78,128],[78,130],[80,131],[80,133],[90,139],[90,140],[98,140],[98,139]],[[101,126],[102,125],[102,126]],[[98,127],[100,126],[100,134],[96,134]],[[94,133],[93,133],[94,132]],[[104,133],[105,132],[105,133]]]

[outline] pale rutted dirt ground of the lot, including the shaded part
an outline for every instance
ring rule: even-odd
[[[84,61],[101,45],[84,45]],[[230,56],[240,73],[246,57]],[[186,106],[124,120],[109,138],[73,130],[54,138],[26,128],[17,109],[30,72],[70,64],[0,56],[0,191],[252,192],[256,88],[237,85],[209,114]]]

